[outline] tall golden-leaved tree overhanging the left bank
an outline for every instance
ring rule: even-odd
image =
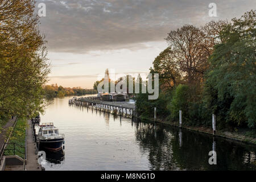
[[[49,73],[35,1],[0,1],[0,116],[43,111],[42,85]]]

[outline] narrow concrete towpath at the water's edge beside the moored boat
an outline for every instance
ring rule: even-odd
[[[36,152],[36,142],[34,142],[34,136],[32,134],[32,122],[28,119],[27,127],[27,171],[42,171],[41,165],[38,164],[38,158]]]

